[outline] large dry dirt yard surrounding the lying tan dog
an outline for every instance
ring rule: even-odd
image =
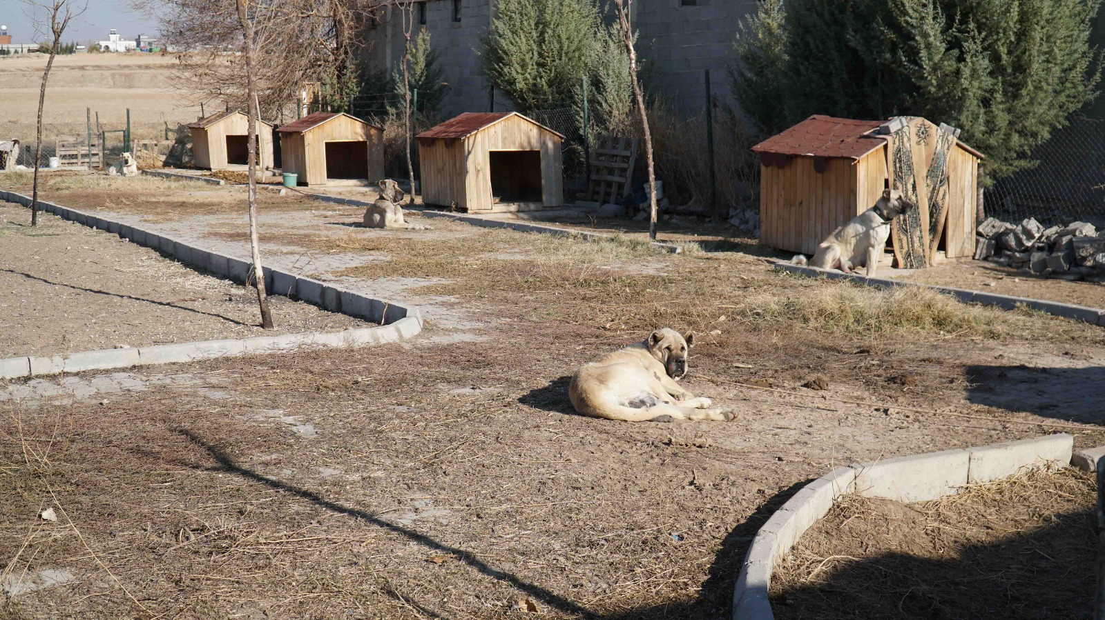
[[[45,193],[243,247],[214,197],[240,190],[207,191]],[[0,399],[0,581],[34,586],[0,609],[718,618],[756,530],[836,464],[1056,430],[1105,442],[1098,328],[781,275],[749,239],[673,256],[418,215],[434,229],[364,229],[362,211],[263,207],[267,256],[414,303],[419,339],[134,371],[179,381],[106,405]],[[687,388],[737,419],[573,414],[571,373],[661,325],[695,330]],[[36,517],[51,505],[56,522]]]

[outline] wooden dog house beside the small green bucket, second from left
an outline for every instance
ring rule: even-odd
[[[383,128],[345,113],[315,113],[278,129],[284,172],[301,185],[383,179]]]

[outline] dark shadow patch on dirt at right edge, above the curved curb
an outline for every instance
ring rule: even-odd
[[[1041,417],[1105,424],[1105,367],[968,366],[967,399]]]

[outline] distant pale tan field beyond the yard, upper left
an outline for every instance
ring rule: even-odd
[[[96,113],[105,128],[126,126],[126,110],[136,139],[165,136],[165,124],[176,128],[200,114],[187,93],[175,89],[173,56],[160,54],[75,54],[57,56],[46,89],[43,137],[46,141],[85,135],[85,109]],[[39,87],[46,56],[0,58],[0,139],[34,141]]]

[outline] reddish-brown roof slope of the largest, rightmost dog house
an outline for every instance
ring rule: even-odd
[[[884,120],[853,120],[814,115],[756,145],[753,151],[860,159],[885,143],[882,136],[866,135],[884,122]]]

